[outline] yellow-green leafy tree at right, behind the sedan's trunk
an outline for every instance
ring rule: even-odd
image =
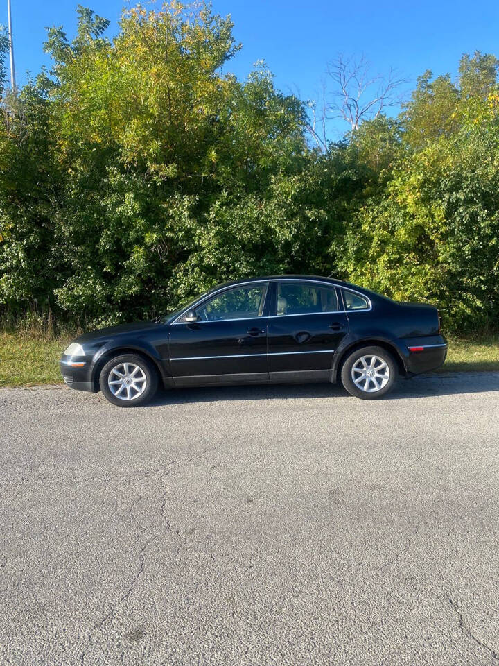
[[[435,302],[461,332],[499,317],[498,105],[496,93],[462,103],[459,130],[401,160],[345,239],[353,281]]]

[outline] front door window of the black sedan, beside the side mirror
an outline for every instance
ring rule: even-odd
[[[200,321],[261,317],[265,291],[265,284],[229,289],[197,307],[196,314]]]

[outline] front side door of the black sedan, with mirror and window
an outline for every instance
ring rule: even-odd
[[[175,386],[267,382],[268,282],[229,287],[170,326],[170,372]]]

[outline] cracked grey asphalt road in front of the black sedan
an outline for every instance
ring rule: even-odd
[[[499,374],[0,391],[0,664],[499,660]]]

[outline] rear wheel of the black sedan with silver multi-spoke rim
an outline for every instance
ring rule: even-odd
[[[374,360],[374,365],[371,366],[373,359],[378,360]],[[372,376],[371,371],[374,373]],[[383,347],[356,349],[345,359],[341,369],[344,388],[350,395],[361,400],[383,398],[392,391],[398,376],[399,368],[394,357]]]

